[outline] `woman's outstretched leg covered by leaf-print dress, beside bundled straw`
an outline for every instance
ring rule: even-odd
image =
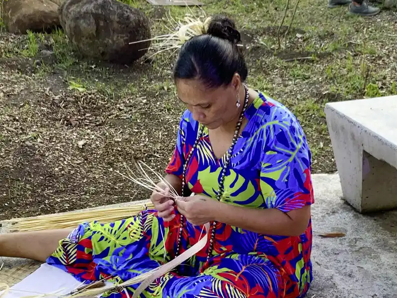
[[[167,261],[163,239],[167,233],[150,210],[113,223],[83,223],[61,239],[47,264],[81,282],[126,281]]]

